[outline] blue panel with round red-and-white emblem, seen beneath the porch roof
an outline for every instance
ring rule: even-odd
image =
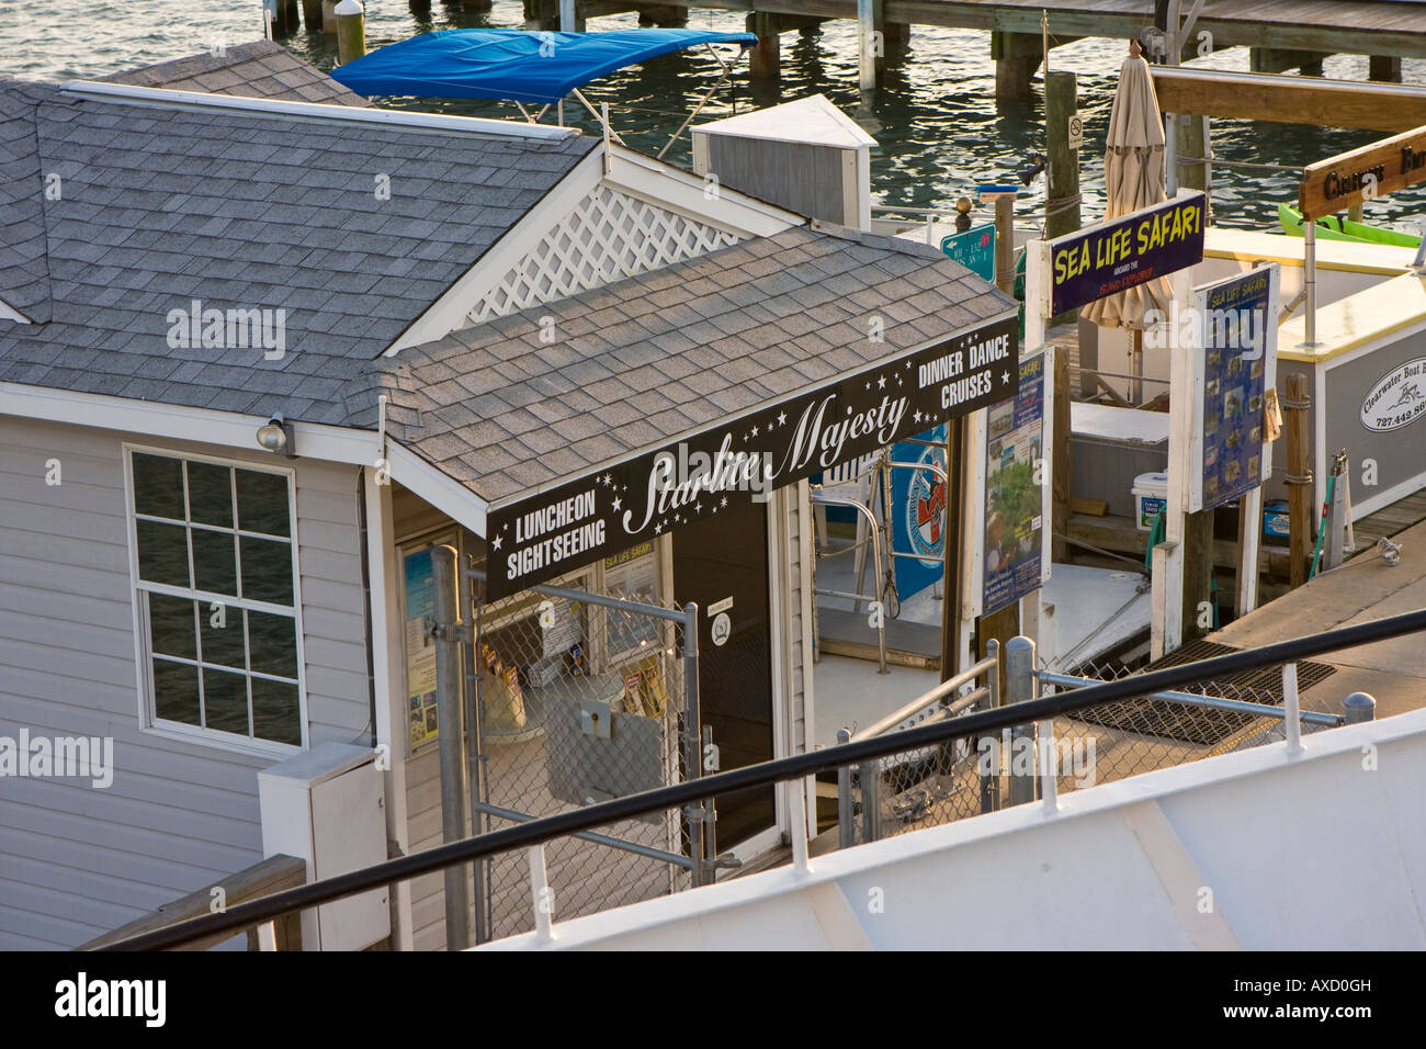
[[[891,445],[893,462],[934,462],[945,470],[945,424]],[[945,482],[931,470],[891,468],[891,558],[896,592],[906,601],[945,574]]]

